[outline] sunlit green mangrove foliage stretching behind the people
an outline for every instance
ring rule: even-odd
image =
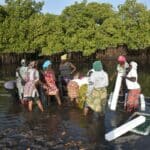
[[[0,6],[0,52],[51,55],[126,45],[130,51],[150,47],[150,10],[126,0],[114,10],[108,3],[75,3],[61,15],[43,14],[43,2],[7,0]]]

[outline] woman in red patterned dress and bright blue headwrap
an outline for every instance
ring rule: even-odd
[[[46,89],[46,95],[49,96],[54,95],[56,97],[58,105],[61,105],[61,100],[59,96],[59,90],[56,86],[56,78],[53,69],[51,68],[52,62],[50,60],[46,60],[43,64],[43,76],[45,80],[44,88]]]

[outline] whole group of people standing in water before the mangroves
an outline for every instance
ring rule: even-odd
[[[32,61],[26,66],[26,61],[21,60],[21,67],[17,68],[17,88],[21,103],[27,102],[29,111],[32,111],[33,102],[36,101],[39,109],[44,111],[42,102],[39,98],[38,86],[45,91],[47,99],[54,95],[59,106],[62,104],[61,96],[63,86],[66,87],[68,97],[77,104],[82,103],[84,115],[87,115],[89,109],[101,115],[105,113],[107,103],[107,87],[109,85],[108,73],[104,71],[102,62],[95,61],[92,69],[86,77],[81,77],[76,71],[76,67],[67,60],[67,54],[61,56],[61,64],[59,66],[60,75],[58,77],[59,88],[56,84],[56,77],[52,69],[52,62],[46,60],[42,64],[42,79],[37,69],[37,63]],[[128,71],[127,71],[128,68]],[[138,98],[140,94],[140,85],[137,82],[137,63],[126,62],[124,56],[118,57],[118,72],[123,72],[123,79],[128,89],[127,110],[132,111],[138,107]],[[80,96],[80,92],[86,85],[84,96]],[[61,98],[60,98],[61,97]]]

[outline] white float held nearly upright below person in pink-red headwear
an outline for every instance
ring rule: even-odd
[[[114,92],[112,95],[111,106],[110,106],[110,109],[113,111],[116,110],[118,97],[119,97],[119,91],[120,91],[120,87],[121,87],[121,83],[122,83],[122,76],[123,76],[123,73],[118,72]]]

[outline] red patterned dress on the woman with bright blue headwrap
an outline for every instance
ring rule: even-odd
[[[55,83],[54,72],[49,70],[44,71],[44,79],[44,88],[46,89],[47,95],[56,95],[58,93],[58,88]]]

